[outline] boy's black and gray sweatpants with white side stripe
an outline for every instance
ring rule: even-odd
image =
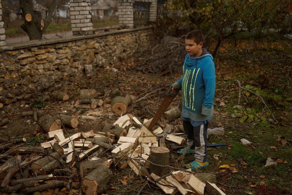
[[[187,145],[195,149],[195,159],[198,162],[207,162],[207,129],[208,122],[201,126],[193,127],[190,121],[182,121],[185,133],[187,134]]]

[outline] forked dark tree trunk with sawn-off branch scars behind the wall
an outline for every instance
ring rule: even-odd
[[[46,30],[47,26],[50,24],[53,11],[56,6],[57,0],[52,0],[48,7],[48,15],[44,20],[44,27],[42,28],[41,21],[42,18],[35,15],[33,10],[33,2],[32,0],[20,0],[19,5],[21,8],[21,16],[24,18],[24,24],[21,28],[27,33],[30,40],[42,39],[42,34]],[[27,14],[31,15],[31,21],[25,19]]]

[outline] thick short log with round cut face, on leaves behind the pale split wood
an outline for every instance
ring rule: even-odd
[[[128,96],[116,96],[112,99],[110,105],[114,113],[116,113],[117,115],[122,115],[127,113],[127,109],[131,101],[131,98]]]

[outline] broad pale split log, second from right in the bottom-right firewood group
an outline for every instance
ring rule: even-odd
[[[194,176],[192,173],[187,173],[187,172],[180,172],[178,174],[174,174],[174,177],[178,181],[184,182],[186,185],[189,186],[189,188],[196,192],[197,195],[203,195],[204,194],[204,189],[205,189],[205,183],[202,182],[199,178]]]

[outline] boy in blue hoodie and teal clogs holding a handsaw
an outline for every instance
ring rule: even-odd
[[[182,125],[187,134],[187,147],[179,154],[194,153],[195,160],[186,165],[192,170],[207,167],[207,129],[213,116],[215,65],[213,57],[202,48],[204,36],[191,31],[185,36],[182,77],[170,86],[167,95],[182,89]]]

